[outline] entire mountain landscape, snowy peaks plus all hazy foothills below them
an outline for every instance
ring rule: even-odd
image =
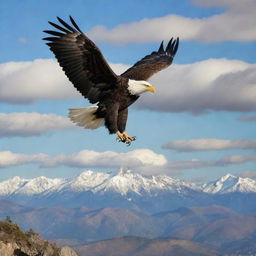
[[[163,255],[256,253],[255,202],[256,182],[231,174],[203,185],[130,170],[0,183],[0,218],[11,216],[80,255],[103,255],[107,245],[148,255],[159,244]]]

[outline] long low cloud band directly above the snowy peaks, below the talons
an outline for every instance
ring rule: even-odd
[[[183,170],[218,167],[256,162],[256,155],[232,155],[215,161],[200,159],[168,161],[164,155],[149,149],[137,149],[127,153],[113,151],[96,152],[83,150],[70,155],[49,156],[45,154],[18,154],[11,151],[0,152],[0,168],[39,164],[43,168],[68,166],[76,168],[132,168],[145,174],[178,174]]]

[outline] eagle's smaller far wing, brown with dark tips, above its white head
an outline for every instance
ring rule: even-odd
[[[131,68],[127,69],[121,76],[134,80],[148,80],[152,75],[172,64],[172,60],[179,47],[179,38],[169,41],[164,50],[163,42],[157,52],[152,52]]]

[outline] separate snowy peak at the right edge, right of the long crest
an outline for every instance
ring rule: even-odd
[[[227,174],[216,181],[204,184],[202,189],[206,193],[213,194],[231,192],[256,193],[256,181]]]

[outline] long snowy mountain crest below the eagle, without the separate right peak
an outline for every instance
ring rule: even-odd
[[[186,188],[200,190],[193,183],[173,179],[166,175],[147,177],[131,170],[120,170],[117,174],[88,170],[73,179],[51,179],[43,176],[34,179],[14,177],[0,182],[0,196],[38,195],[68,191],[77,193],[91,191],[101,194],[116,192],[123,196],[128,193],[153,195],[156,191],[183,193]]]

